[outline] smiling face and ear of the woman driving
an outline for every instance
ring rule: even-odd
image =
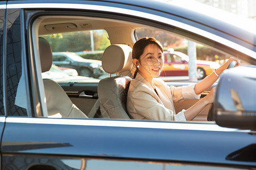
[[[137,61],[139,73],[147,80],[158,77],[163,69],[163,53],[156,44],[149,44],[144,48],[144,52]]]

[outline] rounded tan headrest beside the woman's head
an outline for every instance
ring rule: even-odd
[[[102,68],[109,74],[129,71],[133,66],[131,51],[130,46],[124,44],[108,46],[102,56]]]

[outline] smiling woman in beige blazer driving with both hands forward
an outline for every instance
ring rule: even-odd
[[[230,58],[224,65],[196,84],[169,87],[163,80],[156,79],[163,69],[163,47],[158,40],[144,37],[133,46],[133,63],[136,71],[127,95],[127,111],[131,117],[140,120],[193,120],[205,106],[213,103],[215,88],[186,111],[183,109],[176,114],[174,102],[200,99],[200,94],[216,82],[218,75],[233,60],[235,59]],[[240,65],[239,61],[238,65]]]

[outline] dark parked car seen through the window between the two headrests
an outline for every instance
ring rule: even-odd
[[[76,69],[81,76],[98,78],[105,73],[101,61],[96,59],[85,59],[71,52],[53,52],[52,56],[53,64]]]

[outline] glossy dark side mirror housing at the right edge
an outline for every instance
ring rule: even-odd
[[[236,67],[221,74],[214,100],[216,123],[256,130],[256,66]]]

